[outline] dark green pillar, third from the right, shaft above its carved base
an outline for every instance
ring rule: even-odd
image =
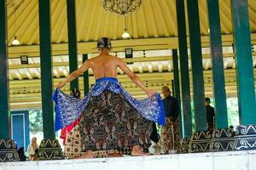
[[[197,0],[187,0],[189,16],[189,41],[193,77],[193,102],[195,109],[195,131],[207,130],[205,89],[201,54],[201,31]]]

